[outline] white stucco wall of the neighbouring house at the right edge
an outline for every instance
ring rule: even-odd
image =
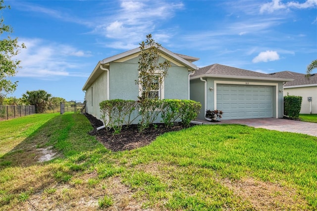
[[[312,113],[317,113],[317,86],[312,87],[296,87],[296,88],[287,88],[284,87],[283,95],[302,96],[302,108],[300,113],[310,113],[311,103],[308,102],[307,98],[312,97]]]

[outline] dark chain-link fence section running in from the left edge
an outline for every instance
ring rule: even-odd
[[[0,120],[27,116],[35,113],[35,106],[0,106]]]

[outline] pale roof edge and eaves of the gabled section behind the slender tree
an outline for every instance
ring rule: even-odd
[[[145,46],[145,49],[148,49],[148,48],[150,48],[150,46]],[[82,90],[87,90],[94,83],[94,81],[104,72],[104,70],[102,70],[100,68],[101,65],[104,65],[104,67],[109,68],[110,62],[113,62],[113,61],[118,61],[118,62],[121,61],[122,62],[122,59],[124,60],[124,58],[129,58],[129,56],[132,56],[132,57],[139,56],[139,54],[137,54],[137,53],[140,53],[140,52],[141,52],[140,48],[135,48],[135,49],[132,49],[130,51],[119,53],[117,55],[113,55],[113,56],[107,57],[107,58],[99,61],[96,65],[94,71],[90,74],[89,78],[87,79]],[[183,54],[179,54],[179,53],[173,53],[173,52],[163,48],[162,46],[159,47],[159,52],[162,55],[165,55],[166,57],[173,59],[175,62],[187,67],[188,71],[193,71],[193,70],[198,69],[197,66],[195,64],[193,64],[192,62],[197,61],[199,58],[188,56],[188,55],[183,55]]]

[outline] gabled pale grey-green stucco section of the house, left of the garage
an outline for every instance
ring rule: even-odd
[[[198,58],[172,53],[160,47],[160,60],[169,60],[171,67],[159,90],[160,99],[189,99],[189,74],[197,67],[191,62]],[[97,63],[86,81],[86,112],[101,119],[99,103],[105,100],[138,100],[139,86],[136,84],[139,72],[140,48],[120,53]]]

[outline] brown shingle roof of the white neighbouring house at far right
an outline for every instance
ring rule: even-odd
[[[309,87],[309,86],[317,86],[317,75],[311,74],[310,77],[306,77],[306,74],[291,72],[291,71],[282,71],[271,73],[271,75],[275,75],[277,77],[288,77],[293,78],[294,81],[289,81],[284,85],[284,88],[295,88],[295,87]]]

